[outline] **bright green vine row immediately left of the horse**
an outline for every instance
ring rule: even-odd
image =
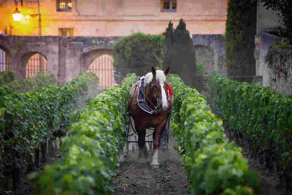
[[[125,102],[135,74],[127,75],[118,87],[111,87],[88,101],[71,120],[72,130],[62,138],[62,157],[44,173],[30,178],[39,185],[33,194],[108,194],[112,191],[113,169],[118,146],[126,129]],[[124,139],[123,139],[124,140]],[[124,145],[124,144],[123,144]]]

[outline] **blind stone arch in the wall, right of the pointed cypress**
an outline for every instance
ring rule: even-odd
[[[215,63],[214,63],[214,51],[208,46],[205,45],[195,45],[195,55],[197,66],[199,63],[203,63],[205,74],[210,74],[215,71]]]

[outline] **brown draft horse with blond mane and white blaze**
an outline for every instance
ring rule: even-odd
[[[145,145],[146,128],[153,127],[153,145],[154,151],[152,156],[152,167],[158,167],[158,149],[160,146],[160,139],[167,122],[167,113],[169,108],[169,101],[167,98],[168,86],[166,83],[166,77],[169,72],[169,67],[164,71],[155,70],[152,66],[152,72],[147,73],[144,79],[144,86],[141,82],[135,83],[131,90],[131,98],[128,99],[127,110],[130,116],[134,119],[135,130],[138,134],[139,145],[139,159],[142,157],[142,153],[145,155],[145,160],[148,160],[148,150]],[[138,98],[142,97],[142,92],[145,88],[145,101],[150,109],[142,109],[142,106],[138,105]],[[140,92],[139,92],[140,91]],[[140,93],[140,94],[139,94]],[[139,95],[138,95],[139,94]],[[142,95],[142,96],[141,96]],[[140,100],[140,99],[139,99]],[[141,104],[140,104],[141,105]],[[145,111],[146,110],[146,111]]]

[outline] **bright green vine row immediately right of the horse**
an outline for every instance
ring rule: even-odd
[[[191,194],[260,194],[259,177],[234,142],[228,142],[222,121],[196,89],[170,75],[175,102],[171,129],[183,156]]]

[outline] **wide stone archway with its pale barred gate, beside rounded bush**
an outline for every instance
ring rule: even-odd
[[[94,72],[99,80],[100,91],[117,85],[114,79],[113,55],[111,49],[97,49],[81,56],[81,72]]]

